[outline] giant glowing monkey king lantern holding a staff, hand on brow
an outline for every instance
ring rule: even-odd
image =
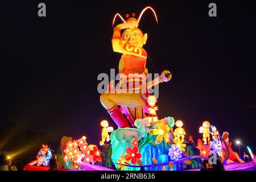
[[[102,93],[100,100],[101,104],[108,110],[108,113],[118,127],[130,127],[134,124],[130,119],[130,123],[127,121],[126,117],[122,114],[123,110],[121,111],[118,106],[125,107],[125,110],[128,110],[127,112],[131,115],[129,111],[130,108],[136,108],[142,111],[143,106],[146,104],[148,88],[143,91],[143,86],[146,85],[147,81],[147,52],[142,47],[147,42],[147,34],[143,34],[138,26],[144,11],[148,9],[154,13],[156,22],[158,22],[154,9],[149,6],[141,12],[138,19],[134,17],[128,18],[128,16],[126,16],[128,19],[125,20],[118,13],[114,16],[113,25],[117,17],[121,18],[123,21],[123,23],[114,27],[112,38],[114,52],[122,54],[118,65],[121,75],[118,89],[127,92],[120,93],[117,92],[117,89],[114,89],[114,92]],[[133,14],[133,16],[135,16],[135,14]],[[169,80],[171,80],[171,73],[169,71],[163,71],[161,76],[152,80],[151,86]],[[136,81],[138,81],[139,84],[134,84]],[[109,88],[112,87],[113,85],[110,84]]]

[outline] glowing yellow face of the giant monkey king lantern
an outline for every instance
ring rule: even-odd
[[[139,28],[127,28],[123,31],[122,40],[126,44],[135,47],[142,47],[146,43],[147,34],[143,35],[142,31]]]

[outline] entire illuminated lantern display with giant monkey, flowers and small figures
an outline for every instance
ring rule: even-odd
[[[227,169],[233,167],[246,169],[248,165],[255,167],[256,159],[249,147],[247,148],[253,161],[247,164],[236,152],[233,152],[228,137],[219,137],[216,127],[210,126],[208,121],[204,121],[199,129],[199,133],[203,134],[204,144],[199,139],[196,147],[192,137],[185,142],[186,134],[181,120],[175,123],[172,117],[158,119],[156,115],[158,107],[155,105],[157,100],[155,96],[150,96],[148,89],[159,82],[170,81],[172,76],[169,71],[163,71],[161,76],[150,81],[150,86],[147,85],[147,52],[143,48],[147,42],[147,34],[143,34],[138,28],[146,10],[151,10],[158,22],[155,11],[149,6],[142,11],[138,19],[134,18],[135,14],[132,14],[131,18],[127,15],[126,20],[120,14],[116,14],[113,20],[113,25],[117,17],[123,22],[114,27],[112,38],[113,51],[122,54],[118,65],[121,76],[119,86],[114,88],[110,83],[108,92],[102,93],[100,100],[119,128],[113,130],[113,127],[109,127],[108,121],[101,121],[102,153],[96,145],[88,145],[85,136],[78,140],[65,137],[61,140],[61,149],[65,148],[65,168],[98,171],[199,169],[202,166],[201,159],[207,160],[211,150],[218,154],[221,152],[220,158],[234,163],[228,167],[225,165]],[[139,84],[136,84],[137,81]],[[148,113],[148,117],[144,112]],[[137,113],[140,113],[140,117]],[[174,124],[177,127],[175,131],[172,128]],[[130,128],[131,126],[134,128]],[[212,142],[210,142],[210,134],[212,134]],[[110,139],[111,143],[105,145]],[[174,143],[171,143],[172,141]],[[48,166],[51,156],[51,150],[47,145],[43,145],[36,160],[38,164],[36,167],[42,164]],[[62,158],[62,155],[59,158]],[[30,163],[30,167],[34,164],[35,161]]]

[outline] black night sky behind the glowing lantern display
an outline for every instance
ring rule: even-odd
[[[47,6],[39,18],[38,3]],[[210,2],[217,17],[208,16]],[[256,11],[251,1],[5,1],[1,2],[0,148],[34,160],[40,144],[63,136],[88,143],[112,119],[100,103],[97,76],[118,69],[111,39],[115,13],[152,6],[139,28],[157,71],[172,72],[159,85],[159,118],[181,119],[193,139],[206,119],[256,154]],[[121,23],[118,20],[118,23]],[[147,60],[148,72],[156,69]]]

